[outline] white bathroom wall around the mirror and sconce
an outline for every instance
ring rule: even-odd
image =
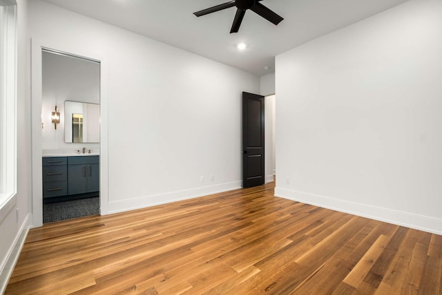
[[[66,100],[99,104],[99,77],[99,64],[96,62],[46,51],[42,53],[41,122],[44,129],[41,130],[41,149],[51,150],[52,153],[53,150],[61,150],[60,153],[81,150],[84,146],[99,149],[99,144],[66,143],[64,128],[65,123],[67,126],[72,124],[72,117],[65,117],[64,114]],[[55,106],[60,112],[57,129],[51,122]]]

